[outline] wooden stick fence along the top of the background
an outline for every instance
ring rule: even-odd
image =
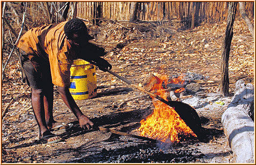
[[[114,20],[129,20],[131,2],[78,2],[77,13],[81,18],[105,18]],[[189,19],[194,2],[138,2],[137,18],[146,21],[165,19]],[[228,2],[200,2],[199,17],[204,22],[219,22],[227,18]],[[101,10],[98,10],[100,8]],[[254,2],[246,2],[248,15],[254,15]],[[100,12],[100,13],[98,13]],[[238,10],[239,15],[239,10]]]

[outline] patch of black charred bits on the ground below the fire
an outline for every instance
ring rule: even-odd
[[[176,147],[160,149],[157,145],[139,144],[112,150],[103,148],[94,155],[65,163],[192,163],[204,156],[197,148]]]

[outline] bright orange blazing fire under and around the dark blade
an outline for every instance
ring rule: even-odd
[[[167,83],[167,76],[161,76],[161,82],[154,86],[157,90],[156,95],[166,99],[165,90],[162,83]],[[182,77],[171,81],[172,83],[181,83]],[[158,99],[153,99],[154,112],[147,116],[146,120],[141,120],[141,127],[138,129],[141,136],[151,137],[166,142],[179,142],[178,135],[195,136],[196,134],[185,124],[183,119],[170,106]]]

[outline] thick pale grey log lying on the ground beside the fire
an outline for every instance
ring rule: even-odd
[[[237,163],[255,163],[254,121],[249,116],[254,108],[254,86],[236,82],[235,95],[226,111],[222,114],[223,131],[229,147],[236,155]]]

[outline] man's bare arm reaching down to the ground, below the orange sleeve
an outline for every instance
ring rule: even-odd
[[[63,99],[64,103],[68,106],[68,108],[73,112],[73,114],[77,117],[79,120],[79,124],[81,128],[87,127],[90,129],[90,126],[93,126],[93,123],[90,121],[90,119],[84,115],[77,104],[75,103],[70,91],[69,87],[60,87],[58,86],[58,91]]]

